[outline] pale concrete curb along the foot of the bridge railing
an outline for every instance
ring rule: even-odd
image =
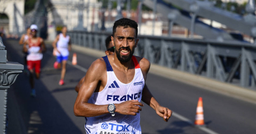
[[[105,55],[103,51],[94,50],[92,48],[80,47],[78,45],[72,45],[73,50],[81,53],[86,53],[94,57],[100,58]],[[235,97],[237,99],[245,100],[247,102],[256,104],[256,91],[245,89],[243,87],[235,86],[221,81],[209,79],[203,76],[197,76],[187,72],[174,70],[167,67],[162,67],[156,64],[151,64],[149,73],[165,77],[167,79],[181,81],[192,86],[200,87],[214,91],[216,93],[225,94],[226,96]]]

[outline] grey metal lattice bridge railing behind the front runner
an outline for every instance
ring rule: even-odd
[[[81,31],[68,34],[72,44],[102,51],[105,51],[105,38],[111,35]],[[148,35],[138,35],[138,38],[135,55],[151,63],[256,90],[256,45]]]

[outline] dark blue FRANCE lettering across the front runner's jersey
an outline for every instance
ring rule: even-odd
[[[135,94],[127,94],[125,96],[113,96],[113,95],[107,94],[107,100],[113,100],[117,102],[126,101],[126,100],[136,100],[140,98],[140,94],[141,92],[135,93]]]

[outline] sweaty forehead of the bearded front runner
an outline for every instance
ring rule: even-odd
[[[115,36],[129,36],[135,37],[135,28],[131,27],[117,27]]]

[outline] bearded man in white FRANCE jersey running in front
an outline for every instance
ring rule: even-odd
[[[160,106],[145,84],[149,61],[133,55],[139,41],[137,23],[117,20],[111,39],[115,53],[91,64],[76,98],[74,113],[85,117],[87,133],[142,133],[141,100],[167,122],[172,111]]]

